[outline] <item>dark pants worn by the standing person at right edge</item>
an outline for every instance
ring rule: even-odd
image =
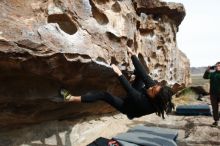
[[[219,112],[218,112],[218,103],[220,102],[220,95],[211,95],[211,104],[212,104],[212,112],[213,112],[213,118],[215,121],[219,121]]]

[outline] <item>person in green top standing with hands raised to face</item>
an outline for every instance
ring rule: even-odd
[[[210,100],[214,118],[214,123],[211,126],[217,127],[219,121],[218,104],[220,102],[220,62],[217,62],[215,66],[208,66],[203,78],[210,79]]]

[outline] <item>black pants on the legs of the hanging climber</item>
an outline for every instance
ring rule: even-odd
[[[143,81],[140,80],[138,76],[136,76],[134,82],[132,83],[132,87],[138,91],[141,91],[144,86]],[[123,114],[127,114],[128,109],[124,106],[124,100],[120,97],[116,97],[111,95],[105,91],[94,91],[88,92],[85,95],[81,96],[81,102],[83,103],[90,103],[95,102],[97,100],[102,100],[116,108],[119,112]]]

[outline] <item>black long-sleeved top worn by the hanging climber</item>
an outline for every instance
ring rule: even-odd
[[[136,78],[139,79],[138,82],[144,83],[145,87],[138,89],[138,87],[132,86],[124,75],[119,76],[119,81],[127,92],[124,106],[126,107],[125,113],[130,119],[156,112],[155,107],[150,101],[152,99],[146,94],[146,88],[154,86],[156,82],[146,73],[135,55],[131,59],[136,70]]]

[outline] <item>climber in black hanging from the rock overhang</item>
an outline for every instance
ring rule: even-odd
[[[66,89],[60,90],[61,97],[65,102],[90,103],[102,100],[121,113],[126,114],[129,119],[152,113],[156,113],[164,119],[164,113],[169,113],[174,108],[174,104],[171,102],[173,94],[171,88],[152,80],[129,47],[128,54],[131,55],[135,67],[134,73],[136,77],[132,85],[116,65],[111,65],[121,85],[127,92],[125,98],[115,97],[105,91],[88,92],[82,96],[72,96]]]

